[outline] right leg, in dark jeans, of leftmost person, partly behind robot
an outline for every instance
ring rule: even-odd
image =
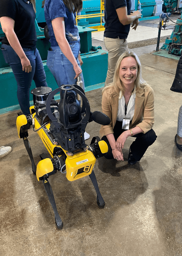
[[[36,84],[36,87],[48,86],[47,82],[46,82],[46,76],[45,76],[43,63],[42,63],[38,49],[35,50],[34,55],[36,57],[36,59],[35,59],[36,67],[35,67],[35,73],[33,76],[33,80]]]

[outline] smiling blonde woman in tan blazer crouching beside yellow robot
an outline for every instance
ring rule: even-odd
[[[142,79],[141,64],[133,52],[124,52],[115,67],[113,82],[102,91],[102,112],[110,119],[101,126],[100,136],[108,144],[105,158],[124,161],[122,149],[129,136],[135,137],[130,146],[128,163],[140,161],[154,143],[154,92]]]

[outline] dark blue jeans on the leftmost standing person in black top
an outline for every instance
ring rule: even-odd
[[[17,81],[17,97],[20,108],[24,115],[30,114],[30,87],[34,80],[36,87],[47,86],[46,76],[38,49],[23,48],[24,53],[30,61],[32,71],[22,71],[20,58],[10,45],[2,44],[2,53],[6,63],[12,68]]]

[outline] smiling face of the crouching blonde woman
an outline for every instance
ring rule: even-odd
[[[138,65],[133,57],[126,57],[121,61],[119,76],[126,89],[134,88],[137,77]]]

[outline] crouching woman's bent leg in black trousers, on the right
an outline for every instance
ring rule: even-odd
[[[133,137],[135,137],[136,139],[130,146],[132,157],[136,161],[140,161],[145,151],[148,149],[149,146],[151,146],[154,143],[157,136],[154,130],[151,129],[145,134],[141,132],[139,134],[134,135]]]

